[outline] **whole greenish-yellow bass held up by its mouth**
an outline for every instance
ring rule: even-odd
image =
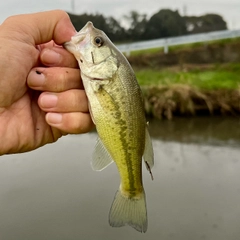
[[[154,154],[135,73],[107,35],[87,24],[64,44],[78,61],[98,139],[92,168],[116,163],[120,187],[109,212],[112,227],[148,227],[142,162],[152,176]],[[153,179],[153,177],[152,177]]]

